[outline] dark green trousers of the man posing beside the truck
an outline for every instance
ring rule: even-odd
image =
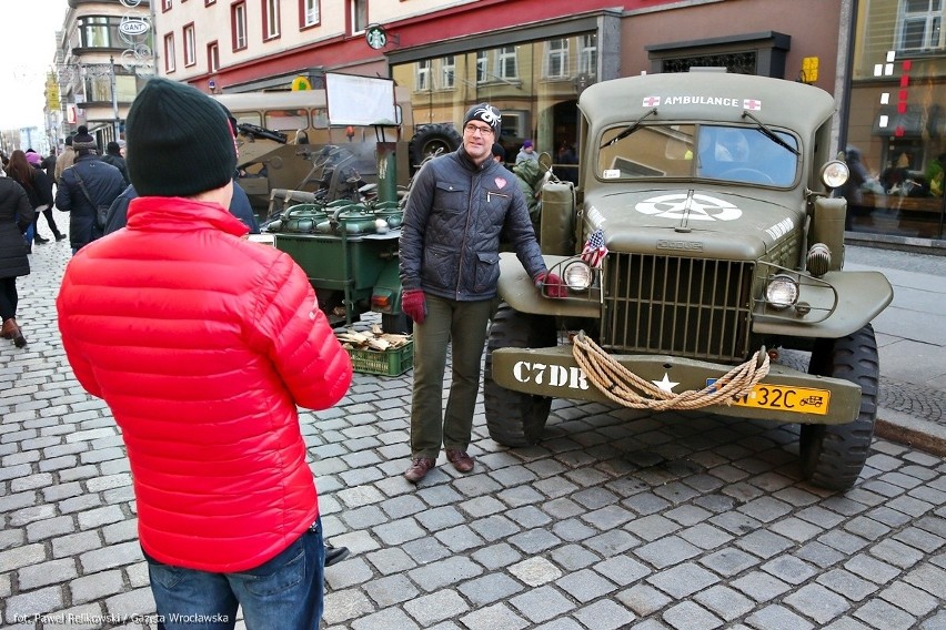
[[[493,301],[456,302],[426,295],[427,316],[414,324],[414,395],[411,404],[411,455],[436,459],[441,444],[466,450],[480,393],[480,363]],[[447,346],[452,382],[443,409]]]

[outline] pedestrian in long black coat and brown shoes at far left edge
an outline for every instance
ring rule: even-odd
[[[27,345],[27,338],[17,323],[17,278],[30,273],[23,234],[32,222],[33,206],[27,191],[0,167],[0,335],[12,339],[18,348]]]

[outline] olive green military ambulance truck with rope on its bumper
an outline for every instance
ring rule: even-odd
[[[553,398],[703,409],[801,425],[804,477],[851,487],[877,413],[870,321],[893,289],[843,271],[832,96],[704,71],[605,81],[578,108],[578,184],[547,183],[541,217],[568,296],[501,256],[493,439],[536,443]],[[779,364],[785,349],[811,353],[807,368]]]

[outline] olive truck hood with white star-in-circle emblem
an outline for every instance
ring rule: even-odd
[[[711,187],[595,191],[585,195],[586,233],[602,230],[612,252],[757,260],[799,235],[804,200],[785,192]]]

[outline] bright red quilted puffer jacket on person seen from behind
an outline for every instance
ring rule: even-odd
[[[76,377],[121,427],[142,547],[214,572],[265,562],[315,520],[296,405],[334,405],[352,375],[305,273],[245,233],[218,204],[139,197],[57,298]]]

